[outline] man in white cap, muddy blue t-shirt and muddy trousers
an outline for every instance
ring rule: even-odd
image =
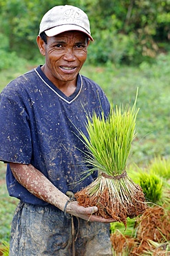
[[[90,35],[85,12],[55,6],[41,20],[37,44],[45,64],[17,77],[1,93],[0,159],[7,187],[20,202],[10,255],[111,255],[109,223],[69,195],[92,183],[85,145],[87,114],[109,113],[102,89],[79,74]],[[73,217],[72,217],[73,216]],[[73,235],[73,241],[72,241]]]

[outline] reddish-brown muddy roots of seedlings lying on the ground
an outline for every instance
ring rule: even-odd
[[[132,241],[132,242],[131,242]],[[149,208],[138,219],[136,238],[111,234],[111,244],[116,253],[129,252],[129,256],[167,256],[170,241],[170,213],[159,206]],[[133,245],[134,242],[134,245]],[[150,252],[150,253],[149,253]],[[119,255],[119,254],[118,254]]]

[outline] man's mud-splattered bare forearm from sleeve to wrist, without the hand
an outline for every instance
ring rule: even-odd
[[[10,163],[10,168],[15,179],[34,196],[47,203],[64,210],[69,198],[58,190],[39,170],[33,165]]]

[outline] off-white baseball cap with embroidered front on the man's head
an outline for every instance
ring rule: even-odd
[[[45,13],[39,26],[39,35],[45,32],[48,37],[53,37],[69,30],[81,31],[94,41],[85,12],[80,8],[68,5],[54,6]]]

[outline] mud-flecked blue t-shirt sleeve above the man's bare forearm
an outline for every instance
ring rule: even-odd
[[[30,120],[21,96],[0,98],[0,161],[29,164],[32,156]]]

